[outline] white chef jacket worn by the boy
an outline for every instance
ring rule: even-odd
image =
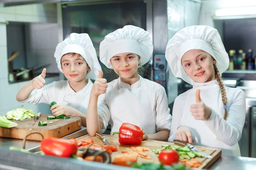
[[[70,87],[68,80],[61,80],[45,85],[39,90],[33,90],[29,98],[22,102],[50,105],[55,101],[57,104],[70,106],[86,115],[92,87],[93,82],[88,79],[87,85],[81,91],[75,92]]]

